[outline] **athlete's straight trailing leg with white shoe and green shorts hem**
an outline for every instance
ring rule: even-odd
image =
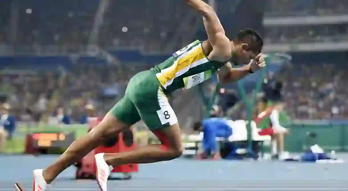
[[[118,111],[117,115],[113,112],[115,109]],[[45,169],[34,170],[33,190],[46,190],[47,184],[50,184],[62,171],[76,163],[101,143],[113,138],[139,120],[140,116],[134,104],[125,96],[106,114],[100,124],[82,138],[74,141],[52,165]]]

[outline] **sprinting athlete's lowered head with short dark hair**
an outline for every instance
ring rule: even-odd
[[[244,29],[240,31],[231,42],[233,56],[231,61],[235,65],[245,65],[250,63],[262,49],[263,41],[261,36],[252,29]]]

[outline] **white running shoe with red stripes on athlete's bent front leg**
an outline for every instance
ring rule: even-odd
[[[94,157],[97,183],[102,191],[107,191],[108,188],[106,183],[108,182],[108,178],[113,167],[106,164],[104,160],[104,153],[98,153]]]

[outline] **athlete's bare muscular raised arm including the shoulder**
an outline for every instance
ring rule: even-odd
[[[213,47],[208,58],[217,61],[230,59],[232,53],[230,40],[226,37],[225,31],[213,8],[202,0],[185,1],[203,16],[204,27]]]

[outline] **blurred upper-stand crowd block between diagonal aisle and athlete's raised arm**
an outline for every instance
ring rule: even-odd
[[[119,10],[117,7],[122,9]],[[110,1],[100,31],[102,37],[100,45],[109,48],[121,46],[155,51],[165,49],[168,47],[165,44],[173,38],[178,27],[184,27],[181,24],[185,23],[184,17],[190,12],[188,9],[176,1],[158,1],[155,4],[137,0]],[[114,21],[114,18],[125,17],[127,19]],[[127,31],[122,31],[122,27],[127,27]]]

